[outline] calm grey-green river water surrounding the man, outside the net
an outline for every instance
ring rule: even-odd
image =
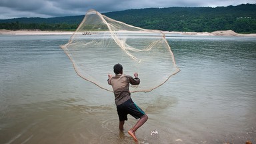
[[[81,79],[59,47],[69,38],[0,35],[0,143],[134,143],[136,120],[119,131],[113,93]],[[149,116],[139,143],[256,143],[256,38],[167,41],[181,71],[132,93]]]

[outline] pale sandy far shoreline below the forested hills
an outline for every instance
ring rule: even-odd
[[[73,35],[75,31],[40,31],[40,30],[17,30],[11,31],[0,29],[0,35]],[[239,34],[232,30],[209,32],[180,32],[180,31],[163,31],[165,34],[180,34],[180,35],[202,35],[202,36],[242,36],[256,37],[256,33]]]

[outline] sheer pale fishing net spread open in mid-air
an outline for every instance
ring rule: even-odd
[[[90,10],[71,36],[61,45],[80,77],[101,89],[113,91],[107,75],[121,63],[123,73],[139,73],[141,83],[130,91],[152,91],[179,72],[171,47],[162,31],[141,29]]]

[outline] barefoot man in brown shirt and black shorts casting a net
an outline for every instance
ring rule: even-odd
[[[135,119],[139,119],[135,126],[131,128],[128,133],[133,137],[135,141],[137,141],[137,137],[135,135],[135,131],[143,125],[148,117],[144,111],[142,111],[131,99],[131,93],[129,91],[129,84],[131,85],[139,85],[140,79],[138,78],[138,73],[134,73],[134,77],[130,75],[123,74],[123,66],[121,64],[114,65],[114,73],[113,77],[109,74],[109,79],[107,82],[109,85],[112,85],[114,95],[115,95],[115,105],[117,105],[117,113],[119,116],[119,129],[123,131],[123,125],[125,121],[127,121],[127,115],[130,114]]]

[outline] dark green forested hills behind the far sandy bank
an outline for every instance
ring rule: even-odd
[[[233,30],[256,33],[256,4],[228,7],[169,7],[129,9],[103,13],[107,17],[145,29],[212,32]],[[0,29],[74,30],[84,15],[55,18],[0,20]]]

